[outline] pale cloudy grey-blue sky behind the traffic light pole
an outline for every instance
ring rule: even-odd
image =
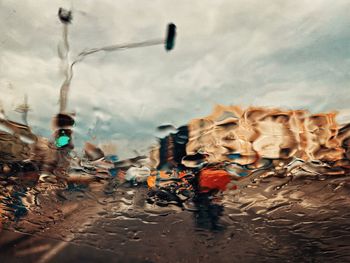
[[[146,149],[156,127],[213,105],[339,111],[350,121],[350,2],[280,0],[0,0],[0,102],[12,119],[28,95],[29,123],[49,136],[64,80],[59,7],[73,10],[71,59],[87,48],[163,37],[175,49],[101,52],[75,68],[68,108],[76,141]],[[90,132],[89,132],[90,131]]]

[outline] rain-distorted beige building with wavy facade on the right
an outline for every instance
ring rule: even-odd
[[[207,117],[190,121],[187,154],[207,153],[210,162],[235,158],[240,164],[260,158],[336,161],[344,157],[336,113],[310,114],[237,106],[215,107]]]

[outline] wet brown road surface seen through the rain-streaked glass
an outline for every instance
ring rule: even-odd
[[[145,187],[59,194],[42,217],[2,232],[4,262],[348,262],[350,181],[267,178],[188,210],[145,202]],[[97,194],[98,193],[98,194]],[[47,200],[52,200],[48,198]],[[62,201],[63,200],[63,201]],[[49,209],[50,208],[50,209]],[[57,211],[56,211],[57,212]],[[207,227],[217,220],[217,228]],[[208,221],[208,222],[207,222]],[[11,229],[11,227],[9,227]],[[12,240],[12,241],[11,241]]]

